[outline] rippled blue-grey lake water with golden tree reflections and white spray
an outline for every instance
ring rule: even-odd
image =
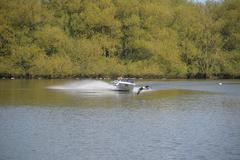
[[[0,159],[240,159],[239,80],[136,83],[0,80]]]

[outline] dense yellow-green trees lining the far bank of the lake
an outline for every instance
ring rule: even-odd
[[[0,73],[236,78],[239,31],[239,0],[1,0]]]

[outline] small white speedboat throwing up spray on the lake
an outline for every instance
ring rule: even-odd
[[[116,87],[117,91],[132,91],[136,85],[133,79],[129,78],[120,78],[118,80],[114,80],[112,83],[113,86]]]

